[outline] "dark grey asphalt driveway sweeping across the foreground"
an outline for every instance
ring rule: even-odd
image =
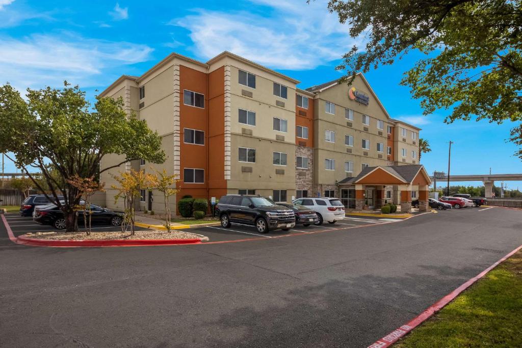
[[[0,222],[0,346],[365,347],[522,244],[516,210],[355,219],[126,248],[17,245]]]

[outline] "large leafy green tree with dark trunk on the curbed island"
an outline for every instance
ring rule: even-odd
[[[123,110],[123,100],[97,97],[94,107],[85,92],[67,82],[63,89],[27,89],[26,99],[10,85],[0,87],[0,152],[32,179],[35,187],[63,211],[66,231],[77,230],[76,207],[80,192],[75,177],[92,178],[121,164],[145,159],[162,163],[161,137]],[[100,169],[107,154],[122,156],[120,163]],[[38,169],[48,187],[30,174]],[[58,199],[63,196],[63,202]]]

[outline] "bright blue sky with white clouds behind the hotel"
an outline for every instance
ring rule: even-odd
[[[362,39],[328,13],[326,2],[236,0],[233,2],[0,0],[0,83],[19,90],[60,87],[64,79],[93,98],[122,74],[141,75],[170,52],[201,61],[231,51],[276,69],[307,88],[340,77],[341,55]],[[419,54],[365,74],[388,113],[423,128],[432,152],[429,172],[522,173],[505,141],[515,124],[487,121],[443,123],[448,111],[422,116],[419,101],[399,86]],[[6,172],[15,171],[6,163]],[[480,183],[470,183],[479,185]],[[522,182],[507,183],[522,189]]]

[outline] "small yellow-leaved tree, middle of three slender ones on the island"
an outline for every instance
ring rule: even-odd
[[[136,196],[139,195],[141,189],[148,189],[152,186],[153,175],[146,174],[145,171],[135,171],[120,173],[120,176],[112,176],[119,185],[112,185],[111,188],[118,191],[114,196],[114,202],[123,198],[123,208],[125,211],[125,219],[122,223],[122,233],[131,226],[131,235],[135,234],[134,221],[136,218],[136,209],[134,208]]]

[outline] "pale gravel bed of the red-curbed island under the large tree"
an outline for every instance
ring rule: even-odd
[[[37,232],[37,233],[27,233],[27,237],[29,238],[37,238],[37,239],[54,239],[56,241],[100,241],[100,240],[108,240],[108,239],[195,239],[201,238],[201,236],[181,231],[136,231],[135,235],[132,236],[131,232],[122,233],[118,232],[91,232],[90,235],[87,235],[85,232]]]

